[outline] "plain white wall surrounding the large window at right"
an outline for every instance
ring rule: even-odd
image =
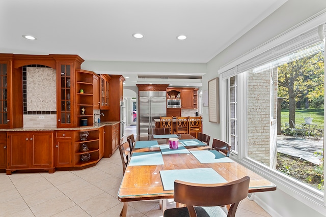
[[[288,0],[281,8],[207,63],[207,74],[203,76],[203,90],[207,89],[207,85],[204,84],[210,79],[219,77],[218,70],[221,67],[325,8],[324,0]],[[206,107],[203,110],[205,133],[211,135],[211,138],[221,138],[220,125],[208,122],[205,109]],[[286,187],[279,184],[277,191],[256,194],[254,200],[272,216],[326,216],[326,212],[321,214],[285,192]]]

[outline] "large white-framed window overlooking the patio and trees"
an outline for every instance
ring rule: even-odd
[[[324,189],[321,29],[323,25],[219,71],[222,113],[227,114],[222,137],[231,144],[232,157],[262,173],[269,168],[267,176],[274,174],[294,192],[314,198],[322,198]],[[305,159],[301,151],[317,161]]]

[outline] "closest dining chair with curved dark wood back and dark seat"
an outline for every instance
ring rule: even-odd
[[[198,184],[174,181],[174,201],[186,207],[171,208],[164,217],[228,216],[234,217],[241,200],[248,196],[250,177],[244,176],[228,183]],[[229,205],[226,214],[220,206]]]

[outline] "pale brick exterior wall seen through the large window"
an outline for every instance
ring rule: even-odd
[[[273,84],[274,104],[271,104],[271,79]],[[277,72],[273,76],[270,71],[253,73],[248,71],[248,96],[247,96],[247,120],[248,120],[248,157],[267,166],[274,165],[276,152],[271,148],[271,137],[274,137],[275,128],[271,127],[270,110],[277,114]],[[273,106],[273,107],[272,107]],[[273,113],[272,112],[272,113]],[[274,130],[273,130],[274,129]],[[272,144],[274,147],[274,144]],[[271,156],[273,155],[273,156]],[[273,159],[271,162],[270,160]],[[272,164],[272,165],[271,165]]]

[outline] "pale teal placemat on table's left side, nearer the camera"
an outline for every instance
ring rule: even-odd
[[[129,166],[162,165],[164,164],[160,151],[134,152],[131,155]]]

